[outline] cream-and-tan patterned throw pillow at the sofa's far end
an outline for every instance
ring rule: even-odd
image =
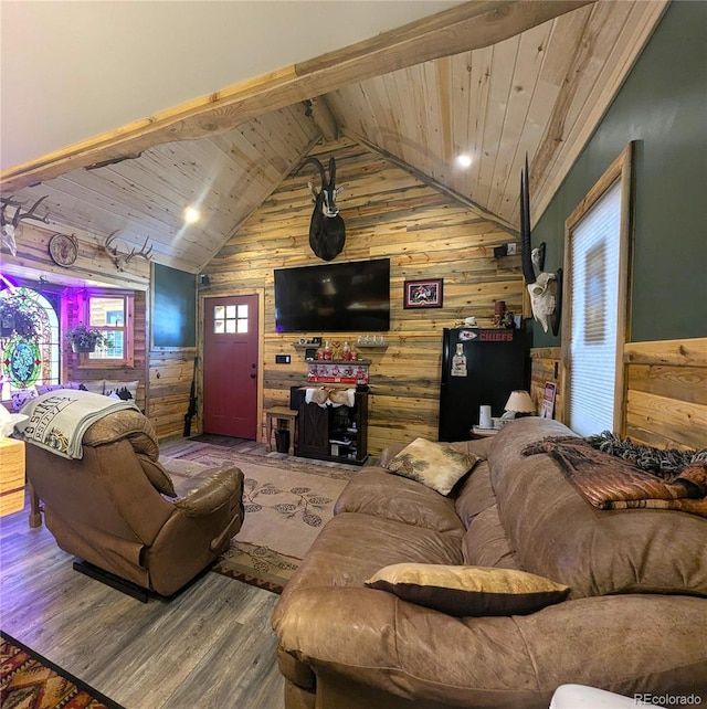
[[[449,495],[478,461],[477,456],[460,453],[444,443],[415,438],[393,456],[387,467],[391,473],[422,483],[440,495]]]

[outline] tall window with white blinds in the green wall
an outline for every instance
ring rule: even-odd
[[[569,426],[580,435],[612,431],[616,387],[622,180],[570,235]]]

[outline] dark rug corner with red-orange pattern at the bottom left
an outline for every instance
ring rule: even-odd
[[[0,638],[2,709],[123,709],[7,633]]]

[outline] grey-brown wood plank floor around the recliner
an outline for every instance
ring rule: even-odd
[[[74,571],[28,514],[29,502],[0,518],[3,631],[126,709],[284,707],[277,595],[209,572],[169,602],[140,603]]]

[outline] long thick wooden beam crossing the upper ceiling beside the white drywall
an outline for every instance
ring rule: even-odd
[[[344,50],[181,104],[0,174],[11,193],[159,144],[201,138],[244,120],[421,62],[488,46],[597,0],[474,0]]]

